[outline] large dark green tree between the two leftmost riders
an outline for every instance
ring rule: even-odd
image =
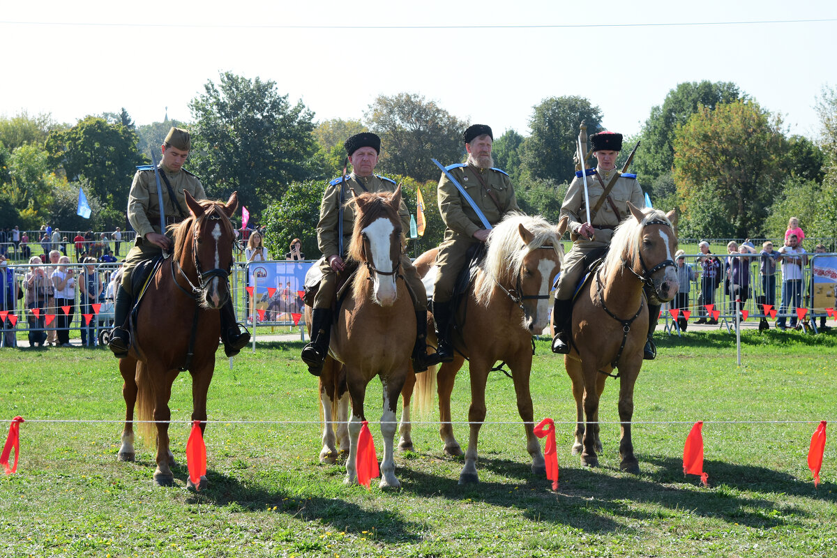
[[[211,197],[238,191],[239,203],[258,215],[290,182],[316,175],[314,113],[301,100],[290,105],[274,81],[225,72],[189,108],[191,157]]]

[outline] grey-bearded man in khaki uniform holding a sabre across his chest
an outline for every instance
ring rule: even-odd
[[[509,175],[494,168],[494,160],[491,157],[494,135],[490,127],[484,124],[471,125],[465,130],[464,136],[468,162],[446,168],[493,226],[500,223],[507,212],[520,211],[515,189],[511,186]],[[438,272],[433,291],[433,317],[436,337],[439,339],[437,354],[441,361],[449,362],[454,359],[448,335],[450,316],[453,312],[450,299],[454,293],[454,283],[468,263],[468,249],[476,243],[484,243],[490,231],[483,228],[474,208],[470,207],[444,172],[439,179],[437,196],[439,213],[442,214],[446,229],[444,242],[439,246],[439,253],[436,255]]]

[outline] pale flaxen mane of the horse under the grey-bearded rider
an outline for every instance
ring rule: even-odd
[[[531,243],[523,244],[518,225],[526,227],[532,233]],[[511,212],[506,215],[488,237],[485,261],[480,269],[485,274],[476,289],[477,302],[488,304],[495,281],[499,283],[515,279],[523,265],[526,254],[542,246],[552,245],[559,259],[563,259],[564,247],[558,237],[557,228],[547,223],[541,216],[530,217],[523,213]]]

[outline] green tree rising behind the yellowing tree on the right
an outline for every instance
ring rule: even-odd
[[[686,124],[699,107],[714,109],[716,105],[746,98],[732,82],[703,80],[677,84],[665,95],[663,104],[654,106],[645,120],[639,137],[642,145],[634,157],[631,171],[636,172],[640,180],[652,184],[657,177],[671,171],[677,128]]]

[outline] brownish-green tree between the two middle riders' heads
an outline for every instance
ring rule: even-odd
[[[378,95],[364,117],[369,130],[381,136],[377,168],[384,174],[424,182],[439,177],[431,158],[444,165],[464,160],[467,122],[421,95]]]

